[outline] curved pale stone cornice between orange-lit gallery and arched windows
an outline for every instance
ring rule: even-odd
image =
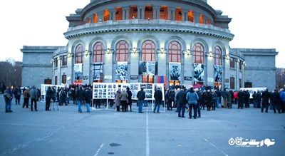
[[[128,32],[128,31],[165,31],[177,33],[193,33],[205,36],[222,38],[227,41],[232,41],[234,35],[227,28],[219,28],[217,26],[196,24],[190,21],[166,21],[166,20],[121,20],[121,21],[106,21],[96,24],[84,24],[68,28],[64,33],[67,39],[76,38],[98,33],[109,32]]]

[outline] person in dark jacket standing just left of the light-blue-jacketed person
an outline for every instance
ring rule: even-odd
[[[176,95],[178,117],[181,118],[185,118],[185,106],[187,103],[186,95],[184,88],[182,88]]]

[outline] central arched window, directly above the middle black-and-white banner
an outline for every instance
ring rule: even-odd
[[[155,61],[155,43],[150,40],[142,43],[142,61]]]

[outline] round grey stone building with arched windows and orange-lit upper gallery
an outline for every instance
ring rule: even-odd
[[[42,83],[275,87],[275,49],[229,48],[231,19],[207,1],[91,0],[66,19],[68,46],[38,49],[48,66]],[[21,49],[25,72],[33,48]],[[41,55],[45,48],[53,49],[49,56]]]

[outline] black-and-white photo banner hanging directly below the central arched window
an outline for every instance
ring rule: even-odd
[[[144,76],[154,76],[155,75],[155,61],[140,61],[138,73]]]

